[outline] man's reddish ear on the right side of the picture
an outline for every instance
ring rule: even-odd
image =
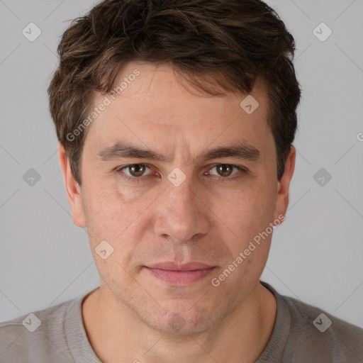
[[[287,207],[289,206],[289,186],[295,169],[296,149],[291,146],[289,157],[287,157],[285,163],[284,175],[281,177],[277,186],[277,201],[275,209],[275,219],[279,219],[279,216],[285,216]]]

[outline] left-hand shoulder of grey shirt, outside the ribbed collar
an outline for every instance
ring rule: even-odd
[[[77,303],[79,298],[0,323],[0,363],[73,362],[65,315]]]

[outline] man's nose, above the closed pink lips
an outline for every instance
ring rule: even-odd
[[[172,242],[194,241],[210,228],[206,201],[190,179],[169,184],[156,208],[154,232]]]

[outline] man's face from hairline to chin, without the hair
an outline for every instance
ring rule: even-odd
[[[135,69],[140,74],[128,77]],[[240,106],[247,95],[203,96],[194,89],[191,94],[167,66],[130,62],[116,86],[125,77],[127,88],[107,95],[111,104],[106,101],[89,126],[82,203],[71,203],[72,213],[89,231],[104,296],[157,330],[203,332],[235,311],[258,285],[272,234],[254,242],[242,262],[237,257],[286,212],[286,197],[278,194],[267,96],[257,83],[251,95],[259,106],[248,114]],[[94,106],[104,101],[99,94]],[[109,155],[106,149],[116,143],[165,160]],[[259,155],[236,157],[225,150],[203,157],[212,149],[243,144]],[[107,242],[97,247],[101,241]],[[100,257],[110,246],[111,255]],[[168,271],[189,262],[213,268],[191,264],[184,267],[189,272]],[[233,262],[235,268],[220,278]]]

